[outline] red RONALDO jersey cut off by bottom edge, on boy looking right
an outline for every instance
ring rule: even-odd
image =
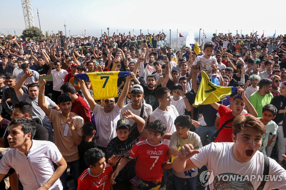
[[[92,175],[90,168],[84,170],[82,175],[78,178],[77,190],[110,190],[110,176],[113,173],[113,169],[109,164],[106,164],[104,173],[99,175]]]

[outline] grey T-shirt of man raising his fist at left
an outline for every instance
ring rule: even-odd
[[[40,94],[41,95],[41,94]],[[28,94],[23,93],[21,97],[17,96],[19,101],[27,101],[32,104],[33,107],[33,114],[32,116],[38,116],[43,123],[43,126],[47,128],[48,131],[51,131],[52,125],[49,118],[46,116],[45,112],[38,106],[38,98],[31,98]],[[50,107],[53,108],[55,103],[49,99],[49,97],[45,96],[45,103]]]

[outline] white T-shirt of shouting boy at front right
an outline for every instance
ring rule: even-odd
[[[233,142],[212,142],[200,148],[200,153],[195,154],[190,159],[198,168],[206,165],[208,170],[213,171],[214,181],[210,183],[210,189],[225,189],[224,184],[227,184],[228,189],[257,189],[261,181],[253,179],[249,181],[248,179],[251,179],[251,175],[262,176],[264,168],[263,154],[257,151],[251,160],[238,162],[233,156],[233,144]],[[269,175],[279,176],[276,181],[266,181],[264,189],[286,188],[286,171],[271,158],[269,158]],[[233,178],[239,181],[233,180]],[[280,178],[282,180],[279,180]]]

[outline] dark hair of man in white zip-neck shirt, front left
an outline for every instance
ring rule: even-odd
[[[31,140],[33,140],[33,137],[36,133],[36,123],[34,120],[23,118],[23,119],[13,119],[9,124],[8,128],[11,125],[17,125],[22,127],[22,131],[24,133],[24,136],[28,133],[31,133]]]

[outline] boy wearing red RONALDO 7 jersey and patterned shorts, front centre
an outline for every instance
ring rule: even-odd
[[[162,142],[167,126],[161,120],[153,120],[149,123],[148,139],[136,143],[129,151],[129,158],[122,158],[111,175],[111,183],[115,184],[115,178],[119,171],[132,159],[136,158],[135,173],[132,179],[134,189],[166,189],[163,177],[163,168],[171,169],[172,164],[168,158],[169,147]]]

